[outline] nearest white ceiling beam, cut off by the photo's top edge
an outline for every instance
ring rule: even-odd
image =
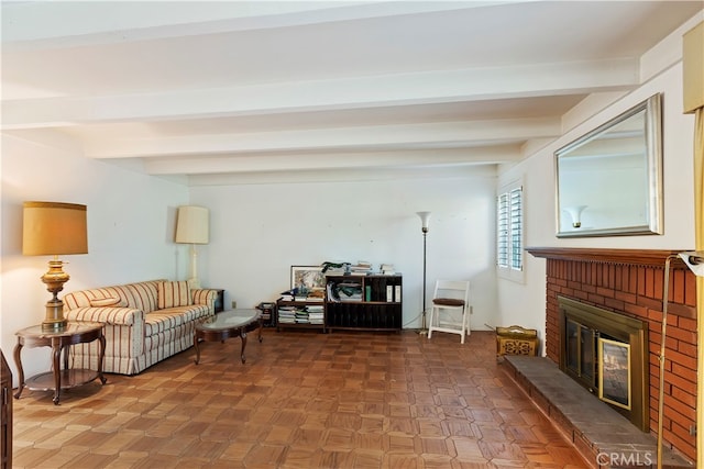
[[[521,3],[515,1],[50,1],[3,2],[3,46],[77,47],[272,30]],[[61,18],[62,21],[56,21]]]

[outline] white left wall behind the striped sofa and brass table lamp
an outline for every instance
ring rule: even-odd
[[[51,299],[40,280],[50,257],[22,256],[22,202],[88,205],[89,254],[62,258],[69,263],[64,270],[70,276],[64,292],[183,277],[188,268],[186,247],[173,243],[176,206],[188,201],[187,187],[86,159],[70,143],[51,135],[41,139],[2,135],[0,346],[13,368],[14,386],[14,332],[40,324]],[[48,351],[22,351],[26,377],[51,369]]]

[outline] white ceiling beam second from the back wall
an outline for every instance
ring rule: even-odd
[[[394,149],[479,146],[487,142],[560,135],[559,118],[502,121],[374,125],[346,129],[179,135],[153,138],[99,139],[86,143],[90,158],[131,158],[254,152],[318,152],[324,149]]]

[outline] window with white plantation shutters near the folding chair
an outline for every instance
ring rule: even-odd
[[[522,187],[498,194],[496,209],[496,264],[499,270],[522,271]]]

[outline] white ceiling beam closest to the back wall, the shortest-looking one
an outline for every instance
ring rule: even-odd
[[[518,145],[495,147],[421,149],[365,153],[321,153],[280,155],[195,155],[193,157],[146,158],[150,175],[208,175],[216,172],[273,172],[311,169],[442,167],[496,164],[519,160]]]

